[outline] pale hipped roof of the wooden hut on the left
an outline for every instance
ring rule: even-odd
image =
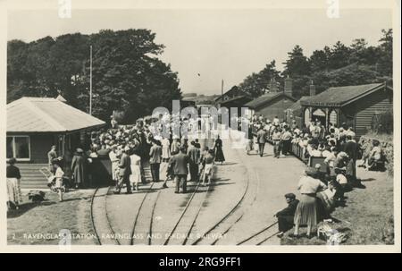
[[[7,105],[7,132],[65,132],[105,122],[51,97],[21,97]]]

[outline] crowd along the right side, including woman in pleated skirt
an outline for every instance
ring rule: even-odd
[[[294,233],[289,236],[299,237],[300,225],[306,225],[307,237],[311,238],[313,228],[320,221],[331,221],[334,207],[345,203],[346,191],[364,188],[356,177],[357,160],[361,158],[361,166],[370,169],[383,159],[376,140],[372,150],[362,156],[356,133],[346,123],[340,127],[329,123],[325,127],[319,120],[314,120],[300,128],[296,121],[281,122],[276,116],[271,121],[263,115],[253,115],[249,122],[247,154],[255,149],[260,157],[264,157],[264,145],[269,141],[273,145],[273,157],[296,155],[308,165],[297,184],[300,199],[293,193],[286,194],[289,206],[275,215],[279,237],[293,227]],[[322,163],[312,165],[317,161],[312,159],[317,157]]]

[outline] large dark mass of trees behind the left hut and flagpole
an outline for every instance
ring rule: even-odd
[[[93,48],[93,114],[108,120],[114,110],[124,122],[172,106],[181,97],[177,73],[157,58],[163,45],[150,30],[101,30],[7,47],[7,102],[23,96],[56,97],[88,112],[89,47]]]

